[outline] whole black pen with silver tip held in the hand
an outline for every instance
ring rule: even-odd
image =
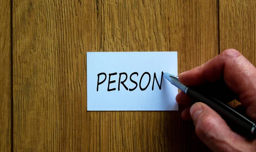
[[[191,96],[192,98],[197,99],[204,104],[207,104],[219,115],[221,115],[222,118],[224,118],[224,120],[227,122],[227,124],[230,125],[231,122],[232,125],[230,126],[230,128],[236,127],[239,132],[243,132],[246,135],[252,135],[253,137],[255,136],[255,123],[238,113],[229,105],[222,103],[221,101],[215,99],[212,96],[203,95],[198,91],[194,90],[192,87],[185,86],[184,84],[180,83],[178,76],[169,73],[164,73],[163,76],[181,91],[186,93],[188,96]]]

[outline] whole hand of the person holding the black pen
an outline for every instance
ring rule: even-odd
[[[245,113],[256,121],[256,68],[234,49],[228,49],[205,64],[180,73],[179,80],[187,86],[217,82],[221,77],[239,95]],[[184,120],[193,120],[195,132],[215,152],[255,152],[256,140],[249,141],[233,132],[218,113],[206,104],[193,101],[185,93],[176,96],[178,104],[187,106],[181,113]]]

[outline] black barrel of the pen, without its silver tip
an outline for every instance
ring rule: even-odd
[[[240,113],[233,110],[233,108],[229,105],[224,104],[211,96],[204,96],[191,88],[188,88],[186,93],[188,96],[192,96],[193,98],[200,100],[215,110],[219,115],[222,116],[222,118],[224,118],[229,126],[231,125],[231,128],[236,128],[236,131],[243,130],[243,133],[246,135],[254,134],[255,124]]]

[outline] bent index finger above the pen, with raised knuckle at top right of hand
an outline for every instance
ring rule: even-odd
[[[197,86],[224,78],[227,86],[239,94],[246,107],[256,100],[256,68],[234,49],[215,56],[205,64],[179,75],[181,83]]]

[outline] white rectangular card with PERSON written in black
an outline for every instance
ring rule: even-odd
[[[178,110],[163,72],[177,75],[177,52],[87,52],[87,110]]]

